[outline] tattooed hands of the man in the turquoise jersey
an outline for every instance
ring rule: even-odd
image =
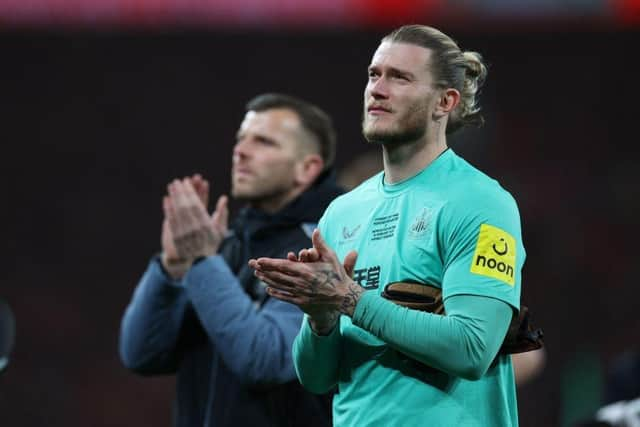
[[[313,248],[287,259],[259,258],[249,261],[256,276],[269,287],[269,295],[300,307],[309,315],[312,328],[320,334],[333,329],[340,314],[352,316],[364,289],[351,280],[357,253],[350,252],[340,263],[318,230]]]

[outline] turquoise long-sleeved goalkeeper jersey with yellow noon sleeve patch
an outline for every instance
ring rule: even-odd
[[[504,337],[503,313],[520,303],[525,252],[508,192],[447,150],[404,182],[386,185],[380,173],[339,197],[320,230],[340,259],[358,251],[354,280],[370,290],[353,322],[342,316],[330,337],[304,322],[295,343],[303,384],[313,371],[315,385],[338,384],[335,426],[518,424],[510,357],[484,372]],[[382,301],[395,281],[442,288],[453,319]],[[452,298],[460,295],[476,297]]]

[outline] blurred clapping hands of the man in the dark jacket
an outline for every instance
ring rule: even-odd
[[[200,256],[214,255],[227,232],[227,197],[207,213],[209,183],[200,175],[173,180],[163,198],[162,264],[173,278],[182,277]]]

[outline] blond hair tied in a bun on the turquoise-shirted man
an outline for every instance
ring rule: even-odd
[[[478,95],[487,77],[487,66],[479,53],[462,51],[451,37],[426,25],[405,25],[382,41],[413,44],[432,51],[431,72],[435,84],[460,92],[460,103],[449,115],[447,134],[464,126],[484,124]]]

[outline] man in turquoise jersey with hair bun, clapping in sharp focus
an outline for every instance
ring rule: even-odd
[[[520,308],[518,208],[447,145],[482,122],[485,76],[479,54],[434,28],[386,36],[363,120],[384,171],[330,205],[313,248],[250,261],[270,295],[307,313],[296,370],[312,391],[338,386],[336,426],[518,425],[511,358],[499,353]],[[446,315],[383,298],[395,282],[441,289]]]

